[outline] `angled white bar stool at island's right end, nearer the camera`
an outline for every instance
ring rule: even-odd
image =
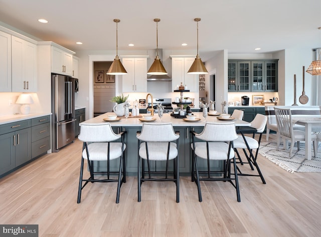
[[[264,177],[262,175],[262,172],[260,170],[259,165],[257,164],[257,155],[259,152],[259,147],[261,143],[262,133],[264,132],[265,126],[267,122],[267,116],[263,114],[256,114],[253,121],[251,122],[250,128],[239,128],[237,130],[238,133],[241,135],[238,135],[238,138],[234,141],[234,151],[237,154],[237,157],[239,159],[239,162],[241,165],[244,163],[247,163],[250,165],[251,169],[254,170],[253,165],[256,167],[256,170],[258,174],[246,174],[242,173],[240,168],[238,167],[238,171],[240,176],[259,176],[262,180],[262,182],[265,184]],[[252,134],[252,137],[245,136],[244,134],[250,133]],[[256,140],[255,135],[259,134],[258,140]],[[247,162],[243,162],[240,156],[240,153],[237,149],[242,149],[244,152],[244,155],[247,159]],[[255,151],[255,155],[253,154],[253,150]]]

